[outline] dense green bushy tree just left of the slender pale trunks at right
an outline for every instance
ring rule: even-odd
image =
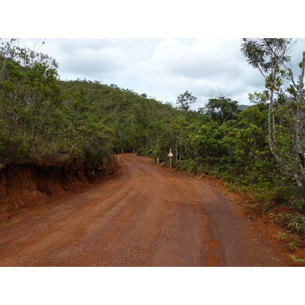
[[[272,177],[274,159],[266,136],[267,110],[258,106],[242,111],[220,127],[220,146],[226,151],[226,176],[245,185]]]

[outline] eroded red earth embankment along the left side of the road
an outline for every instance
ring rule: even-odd
[[[43,204],[79,193],[114,173],[110,158],[104,166],[88,159],[75,158],[69,163],[10,163],[0,170],[0,225],[8,219]]]

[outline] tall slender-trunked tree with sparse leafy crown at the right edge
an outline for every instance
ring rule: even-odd
[[[258,69],[269,91],[268,145],[281,168],[291,175],[305,191],[305,128],[302,104],[305,52],[299,63],[298,81],[289,52],[292,39],[243,39],[241,53],[247,62]]]

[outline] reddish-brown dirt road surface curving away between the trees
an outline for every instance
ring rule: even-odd
[[[118,155],[117,178],[0,230],[0,266],[289,266],[208,181]]]

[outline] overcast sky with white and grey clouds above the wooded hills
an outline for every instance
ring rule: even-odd
[[[41,52],[55,58],[62,80],[98,80],[172,102],[186,90],[202,107],[223,95],[250,105],[248,94],[262,92],[264,79],[246,63],[240,38],[194,39],[63,39],[48,38]],[[20,45],[32,46],[21,39]],[[294,47],[292,61],[301,61],[305,39]]]

